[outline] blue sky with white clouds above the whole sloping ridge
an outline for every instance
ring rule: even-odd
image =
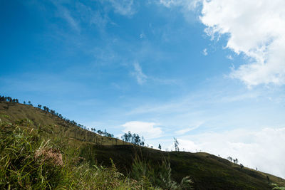
[[[284,7],[0,1],[0,94],[285,177]]]

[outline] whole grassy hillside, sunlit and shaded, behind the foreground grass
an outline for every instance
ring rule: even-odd
[[[7,115],[8,117],[4,116]],[[271,189],[270,183],[284,186],[285,181],[261,171],[243,168],[227,159],[207,153],[162,152],[147,147],[132,146],[119,139],[102,137],[80,127],[66,124],[58,117],[43,112],[29,105],[14,102],[0,102],[0,118],[7,122],[33,121],[30,127],[51,126],[48,135],[61,132],[69,137],[73,146],[80,147],[81,157],[90,164],[110,164],[110,158],[119,171],[128,174],[135,155],[150,164],[161,162],[162,157],[170,159],[172,176],[180,181],[184,176],[191,176],[195,189]],[[269,176],[269,182],[266,176]]]

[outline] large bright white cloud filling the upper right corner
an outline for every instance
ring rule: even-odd
[[[228,34],[227,48],[248,58],[232,78],[249,86],[285,83],[284,7],[283,0],[203,1],[200,19],[207,34]]]

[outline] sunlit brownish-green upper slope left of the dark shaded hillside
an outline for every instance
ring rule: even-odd
[[[0,102],[0,114],[9,117],[1,118],[6,122],[26,122],[26,119],[31,120],[31,127],[50,126],[55,133],[64,132],[67,137],[77,139],[80,142],[91,142],[103,145],[118,145],[128,144],[120,139],[111,137],[103,137],[95,132],[84,130],[76,125],[62,120],[50,112],[45,112],[31,105],[24,105],[16,102]]]

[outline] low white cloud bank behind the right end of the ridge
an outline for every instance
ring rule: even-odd
[[[240,129],[180,137],[178,142],[181,150],[202,150],[224,158],[230,156],[237,158],[244,166],[285,177],[284,137],[285,127],[259,131]]]

